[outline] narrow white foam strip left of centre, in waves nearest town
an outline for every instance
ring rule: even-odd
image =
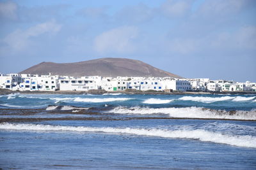
[[[113,102],[113,101],[128,101],[131,100],[131,98],[122,98],[122,97],[116,97],[116,98],[81,98],[76,97],[74,101],[76,102],[86,102],[86,103],[104,103],[104,102]]]

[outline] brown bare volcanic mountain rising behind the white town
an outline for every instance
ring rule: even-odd
[[[49,74],[60,76],[156,76],[175,77],[175,74],[157,69],[140,60],[102,58],[72,63],[41,62],[20,74]]]

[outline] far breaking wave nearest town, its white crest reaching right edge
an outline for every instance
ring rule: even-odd
[[[192,97],[192,96],[184,96],[180,97],[179,100],[182,101],[198,101],[203,103],[214,103],[217,101],[251,101],[255,99],[255,97],[231,97],[231,96],[223,96],[223,97]]]

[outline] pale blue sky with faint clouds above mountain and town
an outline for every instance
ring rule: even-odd
[[[255,82],[256,1],[0,0],[0,73],[103,57]]]

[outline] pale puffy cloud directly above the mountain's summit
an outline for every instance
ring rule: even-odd
[[[103,32],[94,40],[95,50],[99,53],[129,53],[136,48],[133,39],[138,36],[134,26],[124,26]]]

